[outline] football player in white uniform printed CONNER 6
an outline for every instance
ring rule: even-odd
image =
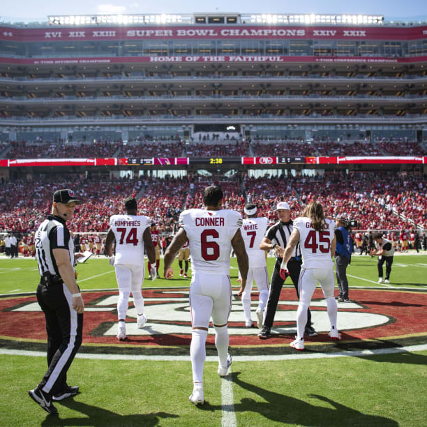
[[[181,229],[165,253],[165,278],[174,275],[172,262],[183,244],[190,242],[193,275],[190,285],[191,345],[193,393],[190,402],[204,403],[203,366],[206,359],[206,338],[212,317],[215,345],[218,350],[218,375],[225,377],[232,363],[228,353],[227,322],[232,304],[230,253],[234,249],[241,274],[243,293],[248,276],[248,255],[241,237],[241,215],[223,209],[223,190],[218,186],[204,189],[205,209],[188,209],[179,216]]]

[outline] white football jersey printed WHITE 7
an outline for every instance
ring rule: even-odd
[[[241,225],[241,236],[245,241],[246,253],[249,258],[249,267],[265,267],[265,251],[260,249],[265,230],[269,226],[267,218],[247,218]]]

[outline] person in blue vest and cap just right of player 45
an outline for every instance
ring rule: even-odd
[[[350,236],[350,221],[344,216],[338,216],[335,220],[336,249],[335,267],[336,281],[338,283],[338,302],[351,302],[348,298],[347,265],[352,260],[353,241]]]

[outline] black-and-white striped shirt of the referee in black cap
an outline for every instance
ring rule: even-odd
[[[57,262],[53,256],[53,250],[66,249],[70,254],[70,263],[74,265],[74,241],[65,221],[59,216],[50,215],[40,224],[36,232],[36,258],[38,271],[43,276],[47,271],[53,276],[59,274]]]

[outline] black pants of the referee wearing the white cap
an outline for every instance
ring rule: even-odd
[[[280,291],[282,290],[284,280],[280,277],[280,264],[281,260],[276,260],[274,264],[273,275],[271,276],[269,299],[267,301],[267,313],[265,314],[264,326],[271,328],[274,322],[274,316],[276,315],[276,309],[278,300],[280,298]],[[299,273],[301,271],[301,260],[291,258],[287,262],[287,268],[289,269],[290,278],[294,283],[295,290],[297,291],[297,297],[299,300],[298,280]],[[306,327],[311,325],[311,313],[310,308],[307,310],[307,323]]]

